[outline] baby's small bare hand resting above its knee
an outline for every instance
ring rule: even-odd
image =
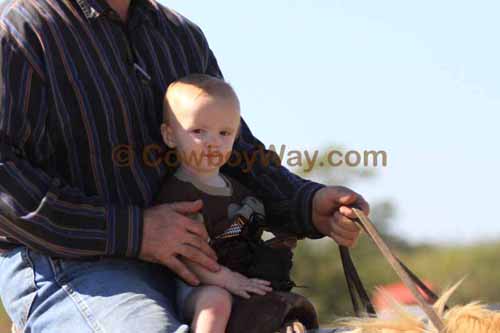
[[[231,293],[243,298],[250,298],[249,293],[265,295],[273,290],[270,287],[271,282],[261,279],[250,279],[246,276],[233,272],[230,269],[223,267],[223,286]]]

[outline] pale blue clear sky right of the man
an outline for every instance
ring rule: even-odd
[[[353,188],[396,204],[395,232],[500,239],[499,2],[160,2],[203,29],[263,142],[385,150]]]

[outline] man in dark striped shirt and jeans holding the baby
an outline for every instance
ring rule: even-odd
[[[178,259],[217,271],[201,202],[151,206],[173,168],[158,161],[162,97],[189,73],[221,77],[202,31],[155,0],[0,3],[0,296],[33,332],[184,332],[172,307]],[[242,120],[234,150],[259,155]],[[266,154],[271,154],[268,151]],[[252,156],[253,156],[252,155]],[[262,162],[262,161],[261,161]],[[278,164],[222,170],[299,237],[350,246],[358,194]]]

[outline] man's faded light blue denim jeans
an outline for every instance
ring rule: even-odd
[[[175,282],[136,259],[52,258],[19,246],[0,255],[0,297],[24,332],[182,333]]]

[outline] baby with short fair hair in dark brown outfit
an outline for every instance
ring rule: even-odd
[[[162,184],[156,203],[202,199],[201,213],[191,218],[205,223],[222,265],[213,273],[185,260],[201,286],[191,287],[179,279],[177,304],[194,332],[223,333],[231,314],[231,294],[248,299],[252,293],[265,295],[272,287],[291,289],[291,251],[265,250],[261,256],[265,260],[255,260],[264,249],[264,206],[246,187],[219,172],[231,156],[240,127],[240,105],[231,86],[202,74],[182,78],[168,87],[163,116],[162,137],[175,148],[179,166]],[[273,256],[276,260],[269,264]]]

